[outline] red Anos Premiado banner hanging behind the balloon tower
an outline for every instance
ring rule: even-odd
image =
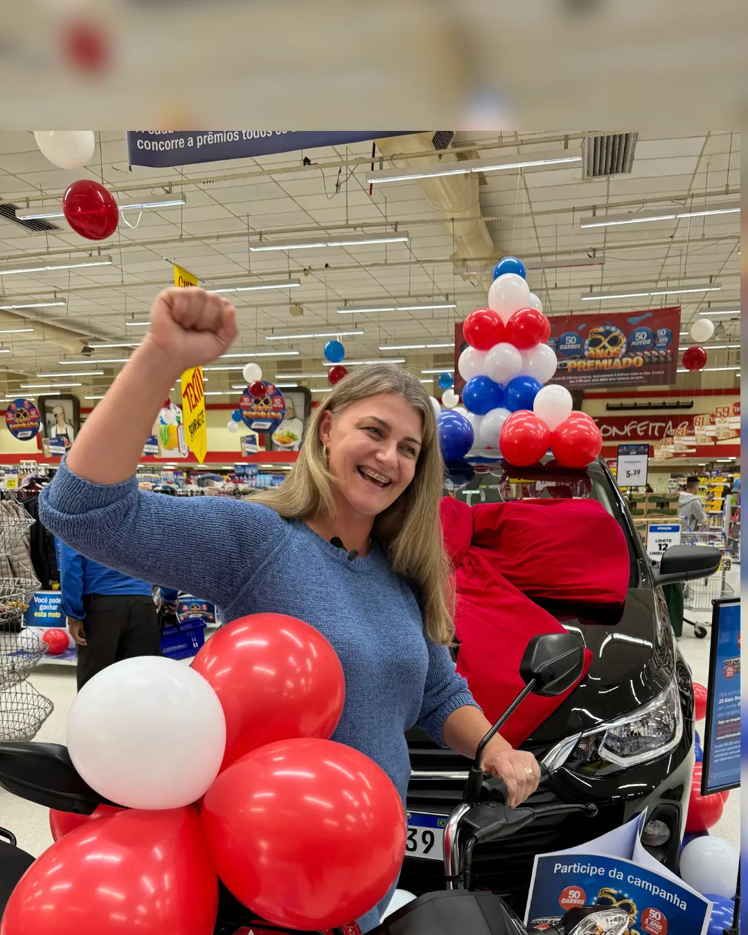
[[[558,361],[554,383],[582,389],[668,386],[676,381],[680,306],[557,315],[550,322],[548,344]]]

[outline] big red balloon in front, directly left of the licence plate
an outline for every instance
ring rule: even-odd
[[[243,756],[209,788],[202,816],[223,883],[279,926],[352,922],[382,899],[405,855],[395,785],[333,741],[282,741]]]

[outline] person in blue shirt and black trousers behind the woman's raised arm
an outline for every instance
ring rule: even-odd
[[[78,690],[121,659],[160,655],[151,584],[107,568],[58,540],[67,628],[78,644]]]

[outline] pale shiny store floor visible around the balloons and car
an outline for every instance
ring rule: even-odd
[[[737,570],[737,569],[736,569]],[[736,576],[737,577],[737,576]],[[703,619],[703,615],[702,615]],[[709,637],[697,640],[693,628],[684,626],[683,637],[678,640],[683,657],[693,669],[694,681],[706,684],[709,668]],[[65,718],[76,694],[75,669],[45,665],[36,670],[31,680],[36,688],[54,702],[54,711],[42,726],[36,740],[65,742]],[[703,741],[704,725],[698,725]],[[0,789],[0,825],[10,828],[18,837],[19,845],[31,854],[39,855],[51,843],[47,810]],[[726,838],[740,846],[740,790],[730,793],[720,822],[712,834]]]

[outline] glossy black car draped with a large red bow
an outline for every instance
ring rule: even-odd
[[[537,821],[511,839],[479,845],[473,887],[502,894],[522,913],[536,854],[582,844],[648,807],[648,849],[677,870],[694,766],[693,686],[655,569],[607,465],[598,459],[584,470],[547,461],[510,468],[484,460],[453,470],[446,487],[449,496],[472,505],[545,496],[596,499],[623,529],[630,566],[623,611],[541,604],[583,641],[593,661],[583,682],[523,744],[553,772],[532,801],[594,801],[597,817]],[[702,562],[709,560],[701,555]],[[669,581],[684,579],[687,563],[686,556]],[[407,736],[410,853],[399,886],[420,895],[443,885],[440,828],[459,799],[468,760],[440,749],[418,728]]]

